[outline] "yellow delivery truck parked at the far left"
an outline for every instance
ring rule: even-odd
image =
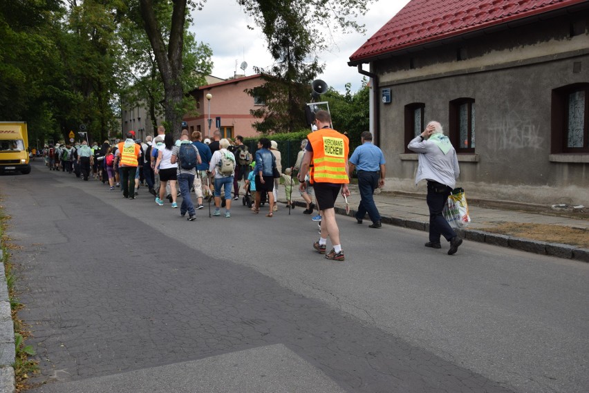
[[[26,122],[0,122],[0,172],[30,173]]]

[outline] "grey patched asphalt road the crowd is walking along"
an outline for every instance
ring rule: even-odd
[[[589,265],[302,209],[196,222],[144,189],[0,176],[33,392],[586,392]]]

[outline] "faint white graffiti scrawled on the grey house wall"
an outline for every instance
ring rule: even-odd
[[[521,148],[536,150],[545,147],[540,125],[533,124],[527,117],[522,118],[516,111],[506,111],[495,122],[489,122],[487,130],[488,146],[492,151]]]

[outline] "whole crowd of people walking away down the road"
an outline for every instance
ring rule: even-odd
[[[335,201],[338,195],[344,198],[350,195],[348,184],[355,171],[361,197],[355,213],[357,223],[362,224],[368,215],[372,221],[369,227],[381,228],[382,218],[373,194],[384,186],[384,155],[372,143],[372,134],[366,131],[361,135],[362,144],[350,157],[348,137],[332,128],[327,111],[315,113],[315,126],[317,131],[310,133],[301,143],[294,170],[298,172],[299,191],[306,202],[303,213],[310,214],[315,208],[319,211],[320,236],[313,243],[313,249],[327,259],[343,261],[345,256],[339,238]],[[111,190],[121,186],[123,198],[131,200],[138,195],[140,184],[144,184],[158,206],[169,200],[171,207],[179,207],[180,215],[187,215],[189,221],[196,220],[196,210],[204,208],[203,200],[207,198],[209,203],[214,199],[212,216],[222,215],[221,209],[225,207],[223,215],[230,218],[232,201],[239,199],[241,180],[244,182],[243,193],[254,193],[253,213],[259,213],[261,204],[265,202],[268,204],[266,217],[274,216],[281,178],[286,188],[287,205],[294,207],[291,169],[281,173],[280,152],[276,142],[268,138],[262,137],[258,141],[254,160],[239,135],[232,144],[230,140],[221,138],[217,131],[214,140],[203,142],[200,132],[189,134],[183,130],[180,139],[175,141],[173,135],[165,133],[165,128],[160,126],[153,141],[151,136],[144,143],[135,141],[134,137],[134,132],[130,131],[125,140],[114,146],[105,141],[100,148],[96,144],[90,148],[82,142],[79,147],[66,146],[65,150],[76,151],[72,157],[84,168],[84,180],[88,180],[89,169],[94,166],[97,180],[103,183],[108,180]],[[448,253],[454,254],[462,239],[442,216],[442,209],[460,174],[456,151],[438,122],[430,122],[420,135],[409,142],[408,148],[419,153],[415,184],[427,181],[429,242],[425,243],[425,247],[440,249],[440,238],[444,236],[450,243]],[[67,162],[71,160],[66,160],[66,155],[58,153],[53,146],[48,146],[44,154],[50,169],[70,171]],[[140,182],[140,178],[144,182]],[[196,203],[191,198],[193,191]],[[176,202],[178,196],[182,197],[180,206]],[[328,240],[332,247],[329,252]]]

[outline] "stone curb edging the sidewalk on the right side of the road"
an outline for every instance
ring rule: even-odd
[[[293,202],[300,207],[306,206],[304,202]],[[348,215],[354,218],[357,210],[350,209],[350,213],[346,214],[345,209],[342,209],[341,207],[335,207],[335,212],[337,214]],[[406,220],[403,218],[392,217],[390,215],[382,215],[381,222],[383,224],[391,224],[397,227],[429,231],[429,222]],[[498,233],[479,231],[476,229],[457,229],[456,233],[458,233],[458,236],[473,242],[487,243],[489,245],[518,249],[521,251],[538,253],[541,255],[555,256],[557,258],[589,262],[589,248],[563,245],[560,243],[541,242],[539,240],[525,238],[516,238],[514,236],[500,235]]]

